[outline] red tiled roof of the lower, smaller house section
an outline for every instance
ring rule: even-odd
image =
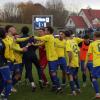
[[[70,16],[70,18],[77,28],[87,28],[87,25],[81,16]]]

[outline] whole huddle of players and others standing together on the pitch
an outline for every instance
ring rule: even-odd
[[[17,92],[14,87],[21,81],[24,67],[25,79],[28,79],[32,92],[35,92],[32,64],[37,69],[41,89],[50,85],[45,74],[48,66],[52,92],[62,93],[67,77],[73,96],[81,93],[79,68],[81,67],[84,87],[88,69],[95,97],[100,98],[97,82],[100,78],[100,32],[94,33],[93,40],[90,40],[87,34],[83,38],[75,37],[71,30],[60,31],[57,36],[53,35],[53,32],[52,27],[40,28],[38,36],[32,36],[28,34],[29,29],[26,26],[21,29],[21,34],[17,34],[12,25],[0,28],[1,100],[8,100],[11,92]],[[62,71],[62,81],[58,77],[59,69]]]

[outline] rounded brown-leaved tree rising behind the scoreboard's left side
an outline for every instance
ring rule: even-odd
[[[29,1],[27,3],[20,3],[18,5],[22,23],[32,23],[32,15],[43,15],[46,8],[39,3],[34,4]]]

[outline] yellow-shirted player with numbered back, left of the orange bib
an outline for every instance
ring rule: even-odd
[[[76,95],[75,85],[77,86],[77,91],[80,92],[80,85],[78,82],[78,68],[79,68],[79,47],[74,39],[71,38],[71,33],[69,31],[65,32],[66,36],[66,52],[68,54],[68,67],[69,67],[69,77],[70,77],[70,87],[72,95]]]

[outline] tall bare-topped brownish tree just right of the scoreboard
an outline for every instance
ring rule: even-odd
[[[46,8],[47,14],[53,15],[54,26],[64,27],[68,11],[65,10],[62,0],[48,0]]]

